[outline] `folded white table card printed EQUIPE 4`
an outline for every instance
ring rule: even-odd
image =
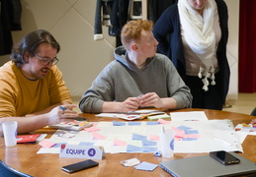
[[[104,148],[96,146],[61,145],[59,157],[102,159]]]

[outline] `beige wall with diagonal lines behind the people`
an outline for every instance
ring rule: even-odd
[[[111,62],[115,37],[104,29],[104,40],[94,41],[96,0],[21,0],[22,28],[13,31],[14,43],[35,29],[49,30],[60,43],[57,66],[72,96],[81,96]],[[229,9],[228,59],[231,67],[229,99],[237,98],[239,1],[225,0]],[[0,57],[2,65],[9,56]]]

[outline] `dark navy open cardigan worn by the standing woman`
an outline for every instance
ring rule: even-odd
[[[223,103],[229,87],[230,69],[226,58],[226,44],[228,38],[228,14],[223,0],[215,0],[221,29],[221,38],[216,50],[221,80],[216,87]],[[183,44],[180,32],[180,19],[177,3],[166,9],[156,22],[153,29],[154,37],[159,42],[158,52],[168,56],[183,79],[186,77],[186,63],[183,53]]]

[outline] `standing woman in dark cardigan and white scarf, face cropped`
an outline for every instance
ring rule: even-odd
[[[191,89],[193,108],[221,110],[229,86],[227,7],[223,0],[179,0],[156,22],[158,52]]]

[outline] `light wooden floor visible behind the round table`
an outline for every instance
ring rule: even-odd
[[[72,97],[74,104],[78,104],[80,97]],[[223,108],[224,111],[237,112],[243,114],[251,114],[256,107],[256,92],[255,93],[238,93],[238,98],[235,102],[232,101],[232,106]],[[81,112],[79,108],[75,108],[77,112]]]

